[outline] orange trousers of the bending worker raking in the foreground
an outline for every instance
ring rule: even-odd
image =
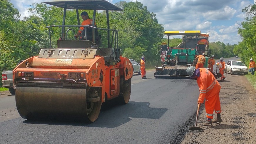
[[[213,96],[210,96],[209,98],[205,99],[205,111],[206,111],[206,117],[213,119],[213,110],[215,110],[215,113],[220,113],[220,91]]]

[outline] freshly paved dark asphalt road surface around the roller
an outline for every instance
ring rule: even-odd
[[[146,76],[145,80],[133,76],[130,102],[104,103],[94,123],[14,117],[1,121],[0,143],[174,143],[177,135],[194,125],[196,80],[155,79],[154,71]],[[0,101],[15,104],[14,96],[1,96]],[[4,107],[0,108],[1,112]],[[187,123],[189,119],[192,123]]]

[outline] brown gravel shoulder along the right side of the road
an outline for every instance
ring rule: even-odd
[[[198,116],[197,126],[203,128],[203,131],[189,131],[181,144],[256,143],[255,89],[242,75],[227,74],[227,80],[219,83],[222,87],[220,102],[223,122],[213,123],[213,127],[200,125],[206,121],[205,108],[201,106],[204,111]],[[216,113],[213,117],[216,118]]]

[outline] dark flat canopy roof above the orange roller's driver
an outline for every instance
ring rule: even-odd
[[[84,10],[94,10],[94,6],[96,4],[96,10],[123,11],[123,9],[103,0],[53,0],[46,1],[44,3],[61,8],[65,8],[65,4],[67,4],[67,9]]]

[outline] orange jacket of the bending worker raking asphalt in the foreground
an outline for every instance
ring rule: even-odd
[[[200,76],[197,78],[199,86],[198,103],[203,103],[204,99],[208,99],[220,92],[220,84],[213,76],[213,74],[206,68],[200,68]]]

